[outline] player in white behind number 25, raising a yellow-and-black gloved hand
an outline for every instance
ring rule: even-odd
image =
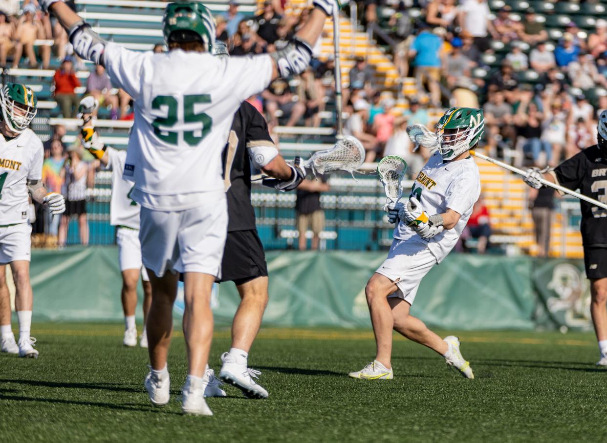
[[[137,283],[141,272],[143,283],[143,332],[139,345],[148,347],[148,335],[145,322],[152,302],[152,285],[148,272],[141,263],[141,245],[139,243],[139,212],[141,206],[131,198],[132,181],[122,178],[126,150],[106,146],[100,140],[92,122],[92,112],[98,102],[93,96],[80,101],[80,114],[83,118],[82,144],[93,157],[97,158],[106,171],[112,171],[112,199],[110,200],[110,223],[117,226],[118,263],[122,274],[122,309],[124,313],[124,346],[137,345],[137,326],[135,326],[135,308],[137,308]]]

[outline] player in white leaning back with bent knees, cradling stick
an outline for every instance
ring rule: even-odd
[[[459,339],[444,340],[409,314],[421,279],[449,254],[480,195],[480,175],[469,150],[483,135],[483,110],[453,107],[436,124],[439,148],[419,172],[409,201],[396,203],[388,219],[396,223],[388,258],[365,288],[377,353],[373,362],[349,376],[393,378],[392,330],[441,354],[464,377],[474,375],[459,351]],[[424,294],[428,296],[429,294]]]

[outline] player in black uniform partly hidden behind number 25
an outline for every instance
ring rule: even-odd
[[[216,55],[228,55],[225,45],[215,44]],[[268,303],[268,269],[251,205],[251,166],[273,177],[264,180],[263,184],[280,191],[297,188],[305,178],[299,158],[294,164],[285,162],[274,146],[263,116],[245,101],[234,115],[223,152],[228,237],[219,281],[236,283],[241,300],[232,322],[232,347],[222,355],[219,377],[242,390],[247,397],[267,398],[268,392],[254,381],[259,371],[247,366],[248,352]]]

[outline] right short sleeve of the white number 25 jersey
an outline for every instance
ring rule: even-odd
[[[232,57],[227,60],[224,78],[229,79],[238,100],[245,101],[268,87],[272,71],[273,61],[267,54]]]

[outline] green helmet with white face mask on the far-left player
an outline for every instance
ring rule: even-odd
[[[0,89],[2,120],[12,132],[21,134],[38,112],[38,99],[32,88],[21,83],[6,83]]]

